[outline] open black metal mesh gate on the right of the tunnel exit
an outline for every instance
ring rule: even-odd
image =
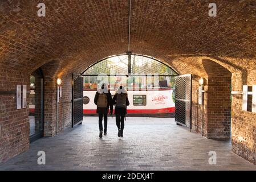
[[[191,75],[175,78],[175,122],[192,129],[192,79]]]

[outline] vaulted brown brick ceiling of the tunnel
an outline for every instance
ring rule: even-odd
[[[40,2],[46,4],[44,18],[37,16],[39,1],[0,2],[0,64],[11,62],[32,72],[59,60],[62,71],[81,72],[103,57],[127,51],[127,0]],[[216,18],[208,16],[211,2],[132,0],[131,51],[170,65],[208,55],[231,57],[233,65],[249,67],[250,61],[239,60],[255,62],[256,2],[216,1]]]

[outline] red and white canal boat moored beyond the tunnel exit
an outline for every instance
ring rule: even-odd
[[[96,89],[84,89],[84,114],[96,114],[96,105],[94,97]],[[130,105],[127,106],[128,115],[136,116],[162,116],[170,117],[175,113],[175,104],[173,102],[173,89],[154,88],[128,90],[128,99]],[[115,91],[111,91],[112,97]]]

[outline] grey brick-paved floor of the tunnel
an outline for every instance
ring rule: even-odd
[[[97,118],[57,137],[42,138],[30,150],[0,166],[0,170],[256,170],[231,152],[230,142],[190,133],[170,118],[127,118],[124,138],[117,137],[115,118],[108,135],[98,138]],[[37,152],[46,152],[46,165],[37,164]],[[217,152],[210,165],[209,151]]]

